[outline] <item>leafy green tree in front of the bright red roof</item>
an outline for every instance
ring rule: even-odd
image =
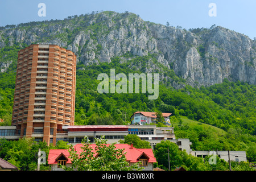
[[[82,151],[80,154],[77,154],[75,148],[71,145],[69,148],[69,158],[71,159],[72,166],[62,166],[64,170],[72,171],[77,169],[78,171],[130,171],[130,170],[142,170],[142,167],[139,167],[139,163],[132,164],[129,166],[129,163],[126,161],[125,154],[123,149],[115,149],[114,144],[106,145],[105,137],[94,138],[96,141],[95,152],[90,146],[87,137],[82,141],[83,146],[81,147]],[[96,154],[96,156],[93,156]]]

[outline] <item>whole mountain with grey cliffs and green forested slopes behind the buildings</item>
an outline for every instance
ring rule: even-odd
[[[193,150],[245,150],[256,161],[256,42],[245,35],[181,30],[112,11],[0,27],[0,35],[0,125],[11,125],[18,51],[52,42],[78,58],[75,125],[127,125],[135,111],[159,110],[172,113],[176,137],[189,138]],[[97,77],[110,78],[110,69],[159,73],[159,97],[98,93]]]

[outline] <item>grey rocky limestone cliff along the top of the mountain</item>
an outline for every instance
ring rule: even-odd
[[[1,27],[0,35],[0,48],[50,42],[71,49],[84,65],[151,53],[192,86],[209,86],[224,78],[256,84],[256,42],[220,26],[188,31],[145,22],[132,13],[105,11]],[[127,53],[130,56],[124,56]],[[146,72],[152,67],[148,64]]]

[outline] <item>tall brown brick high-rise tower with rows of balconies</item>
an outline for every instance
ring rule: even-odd
[[[20,137],[56,143],[57,129],[74,125],[76,55],[56,45],[19,51],[12,125]]]

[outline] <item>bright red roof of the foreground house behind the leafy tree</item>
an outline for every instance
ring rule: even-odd
[[[109,144],[106,144],[106,146],[109,146]],[[82,144],[76,144],[74,146],[75,151],[77,152],[81,152],[82,149]],[[93,148],[92,152],[95,152],[95,147],[96,144],[90,144],[90,147]],[[148,162],[149,163],[155,163],[156,159],[154,157],[153,151],[151,148],[131,148],[131,146],[129,144],[115,144],[115,149],[124,149],[123,152],[126,152],[125,157],[126,157],[126,161],[127,162],[131,162],[131,163],[136,163],[138,162],[138,158],[141,155],[146,155],[148,158]],[[48,156],[48,164],[57,164],[57,158],[58,156],[60,156],[60,154],[65,155],[68,158],[67,164],[71,163],[71,160],[69,159],[69,151],[68,149],[52,149],[49,150],[49,156]],[[96,154],[94,154],[93,156],[96,156]]]

